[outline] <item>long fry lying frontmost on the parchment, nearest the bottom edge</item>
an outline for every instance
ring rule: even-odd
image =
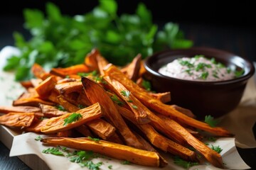
[[[135,149],[126,145],[119,145],[105,140],[95,142],[87,137],[67,138],[67,137],[48,137],[41,140],[43,143],[61,145],[82,150],[92,150],[107,157],[114,159],[127,160],[134,164],[159,167],[159,155],[156,152]]]

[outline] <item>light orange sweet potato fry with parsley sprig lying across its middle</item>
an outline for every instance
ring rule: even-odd
[[[67,113],[59,117],[50,118],[46,125],[41,128],[41,132],[49,134],[76,128],[84,123],[89,122],[90,120],[100,118],[102,116],[102,109],[99,103],[95,103],[94,105],[83,108],[76,113],[80,113],[82,115],[82,118],[78,119],[75,122],[68,123],[68,125],[64,125],[64,120],[73,113]]]

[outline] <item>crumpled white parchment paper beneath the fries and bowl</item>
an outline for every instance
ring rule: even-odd
[[[4,65],[6,57],[11,52],[17,52],[13,47],[7,47],[0,52],[0,80],[4,80],[0,83],[1,95],[0,105],[10,106],[11,102],[23,92],[23,88],[20,84],[15,83],[14,74],[3,72],[1,67]],[[3,83],[4,82],[4,83]],[[11,93],[9,93],[11,91]],[[11,95],[13,94],[13,95]],[[220,126],[230,130],[235,134],[235,138],[219,138],[216,142],[209,142],[210,145],[219,145],[223,151],[220,154],[223,157],[226,169],[250,169],[245,162],[243,162],[235,146],[242,148],[253,148],[256,147],[255,137],[253,136],[252,126],[256,122],[256,85],[255,78],[252,77],[247,84],[245,94],[242,97],[240,105],[235,108],[234,111],[220,118]],[[71,163],[68,158],[58,157],[51,154],[43,154],[43,149],[47,149],[49,146],[44,146],[41,142],[34,140],[38,134],[36,133],[25,133],[16,135],[14,142],[11,147],[10,157],[19,156],[23,154],[36,154],[38,157],[43,159],[44,162],[50,167],[50,169],[81,169],[78,164]],[[46,137],[46,135],[41,135]],[[169,161],[169,165],[165,169],[183,169],[180,166],[176,166],[173,163],[171,154],[163,154],[164,157]],[[117,159],[93,159],[93,162],[104,162],[100,169],[109,169],[108,166],[112,165],[112,169],[156,169],[148,166],[138,166],[136,164],[124,165],[122,161]],[[83,168],[86,169],[86,168]],[[202,164],[200,166],[192,166],[190,169],[216,169],[212,165]]]

